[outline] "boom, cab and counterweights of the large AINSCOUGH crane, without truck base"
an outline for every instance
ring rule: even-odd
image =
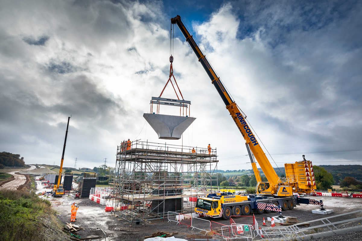
[[[230,115],[234,120],[237,128],[244,137],[253,171],[258,181],[256,193],[277,197],[287,197],[291,196],[293,191],[311,192],[311,189],[316,188],[315,180],[313,180],[313,166],[310,161],[304,159],[304,156],[304,160],[302,162],[285,165],[287,178],[278,177],[264,151],[259,145],[256,136],[253,134],[251,127],[248,125],[247,120],[245,119],[246,116],[242,111],[240,111],[235,101],[233,101],[231,96],[228,94],[226,87],[224,87],[222,81],[220,80],[220,77],[216,74],[211,64],[206,59],[206,56],[202,53],[198,44],[193,39],[193,36],[189,33],[187,27],[181,21],[181,17],[177,15],[176,17],[171,18],[171,23],[176,23],[182,34],[185,36],[186,41],[190,44],[192,50],[195,52],[198,61],[201,63],[206,73],[210,77],[211,84],[215,86],[226,105],[226,109],[230,112]],[[260,165],[264,175],[268,179],[268,182],[262,182],[252,154]],[[298,174],[300,174],[300,176]]]

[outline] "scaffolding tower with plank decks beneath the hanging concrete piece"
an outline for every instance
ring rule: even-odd
[[[112,215],[139,222],[165,218],[168,211],[192,212],[198,196],[217,189],[216,157],[216,148],[209,154],[205,148],[123,141],[109,179]]]

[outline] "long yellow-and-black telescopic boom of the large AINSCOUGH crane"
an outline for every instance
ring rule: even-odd
[[[188,29],[181,21],[181,17],[177,15],[176,17],[171,18],[171,23],[176,23],[182,34],[185,36],[186,41],[190,44],[192,50],[198,57],[199,62],[205,69],[207,75],[210,77],[212,85],[214,85],[216,90],[219,92],[219,95],[221,96],[223,102],[226,105],[226,109],[230,112],[232,119],[237,125],[237,128],[239,128],[241,134],[243,135],[245,143],[249,145],[250,150],[253,152],[257,162],[263,170],[266,178],[268,178],[271,186],[275,187],[275,185],[278,184],[279,177],[277,173],[275,173],[273,167],[270,165],[268,158],[266,157],[264,151],[261,149],[256,137],[251,131],[251,128],[249,128],[249,126],[247,125],[245,117],[237,107],[236,103],[231,99],[223,83],[220,81],[220,77],[218,77],[214,69],[212,69],[211,64],[206,59],[206,56],[202,53],[199,46],[194,41],[193,36],[189,33]]]

